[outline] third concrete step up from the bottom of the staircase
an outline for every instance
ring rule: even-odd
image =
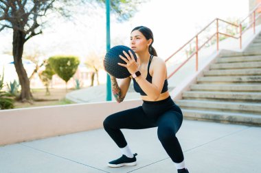
[[[261,92],[205,92],[187,91],[182,94],[183,99],[189,100],[220,100],[220,101],[250,101],[260,102]]]

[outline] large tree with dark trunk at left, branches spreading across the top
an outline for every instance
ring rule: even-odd
[[[96,2],[96,3],[95,3]],[[70,8],[80,5],[104,5],[105,0],[0,0],[0,31],[12,29],[12,55],[14,66],[21,84],[19,100],[29,101],[33,98],[30,92],[30,80],[22,64],[23,47],[27,40],[43,33],[48,22],[46,17],[58,12],[69,18],[73,12]],[[112,12],[118,14],[119,21],[128,20],[137,11],[136,6],[141,0],[111,0]]]

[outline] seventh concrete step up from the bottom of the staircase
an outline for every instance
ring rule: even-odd
[[[210,69],[261,68],[261,62],[231,62],[211,64]]]

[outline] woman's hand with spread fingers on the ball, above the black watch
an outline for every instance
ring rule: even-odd
[[[128,53],[126,53],[125,51],[123,51],[123,53],[126,56],[126,58],[123,57],[122,55],[120,55],[120,58],[122,58],[122,60],[124,60],[126,64],[122,64],[122,63],[118,63],[118,64],[120,66],[126,67],[128,69],[128,72],[130,72],[131,75],[133,75],[139,69],[139,57],[137,57],[137,62],[136,62],[133,53],[131,53],[131,51],[128,51],[128,53],[130,53],[131,56],[128,55]]]

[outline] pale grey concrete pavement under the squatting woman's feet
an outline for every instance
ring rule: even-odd
[[[104,129],[0,147],[1,173],[177,172],[157,139],[157,128],[123,130],[137,165],[109,168],[120,150]],[[177,137],[191,173],[258,173],[261,128],[183,120]]]

